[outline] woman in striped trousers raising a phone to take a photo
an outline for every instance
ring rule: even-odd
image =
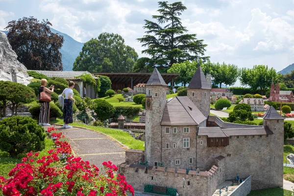
[[[51,85],[49,88],[46,88],[47,86],[47,79],[41,79],[41,86],[39,87],[39,98],[41,92],[46,92],[49,94],[52,94],[54,91],[54,86]],[[51,89],[51,90],[50,90]],[[39,124],[43,126],[49,126],[49,116],[50,116],[50,102],[41,101],[40,103],[40,116],[39,116]]]

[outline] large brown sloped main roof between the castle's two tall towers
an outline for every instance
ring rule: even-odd
[[[205,120],[206,117],[190,98],[186,96],[175,97],[167,102],[161,125],[199,125]]]

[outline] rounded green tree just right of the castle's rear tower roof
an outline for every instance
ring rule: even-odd
[[[220,88],[222,83],[231,86],[237,81],[239,69],[236,65],[218,62],[214,63],[212,68],[213,82],[220,84]]]

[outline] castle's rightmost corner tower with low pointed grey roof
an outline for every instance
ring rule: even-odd
[[[269,171],[272,174],[270,184],[283,186],[283,149],[284,149],[284,118],[272,107],[267,111],[264,126],[273,134],[268,135],[269,141]]]

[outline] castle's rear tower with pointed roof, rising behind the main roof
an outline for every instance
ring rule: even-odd
[[[210,90],[211,87],[199,66],[187,87],[187,96],[206,118],[209,116],[210,112]]]

